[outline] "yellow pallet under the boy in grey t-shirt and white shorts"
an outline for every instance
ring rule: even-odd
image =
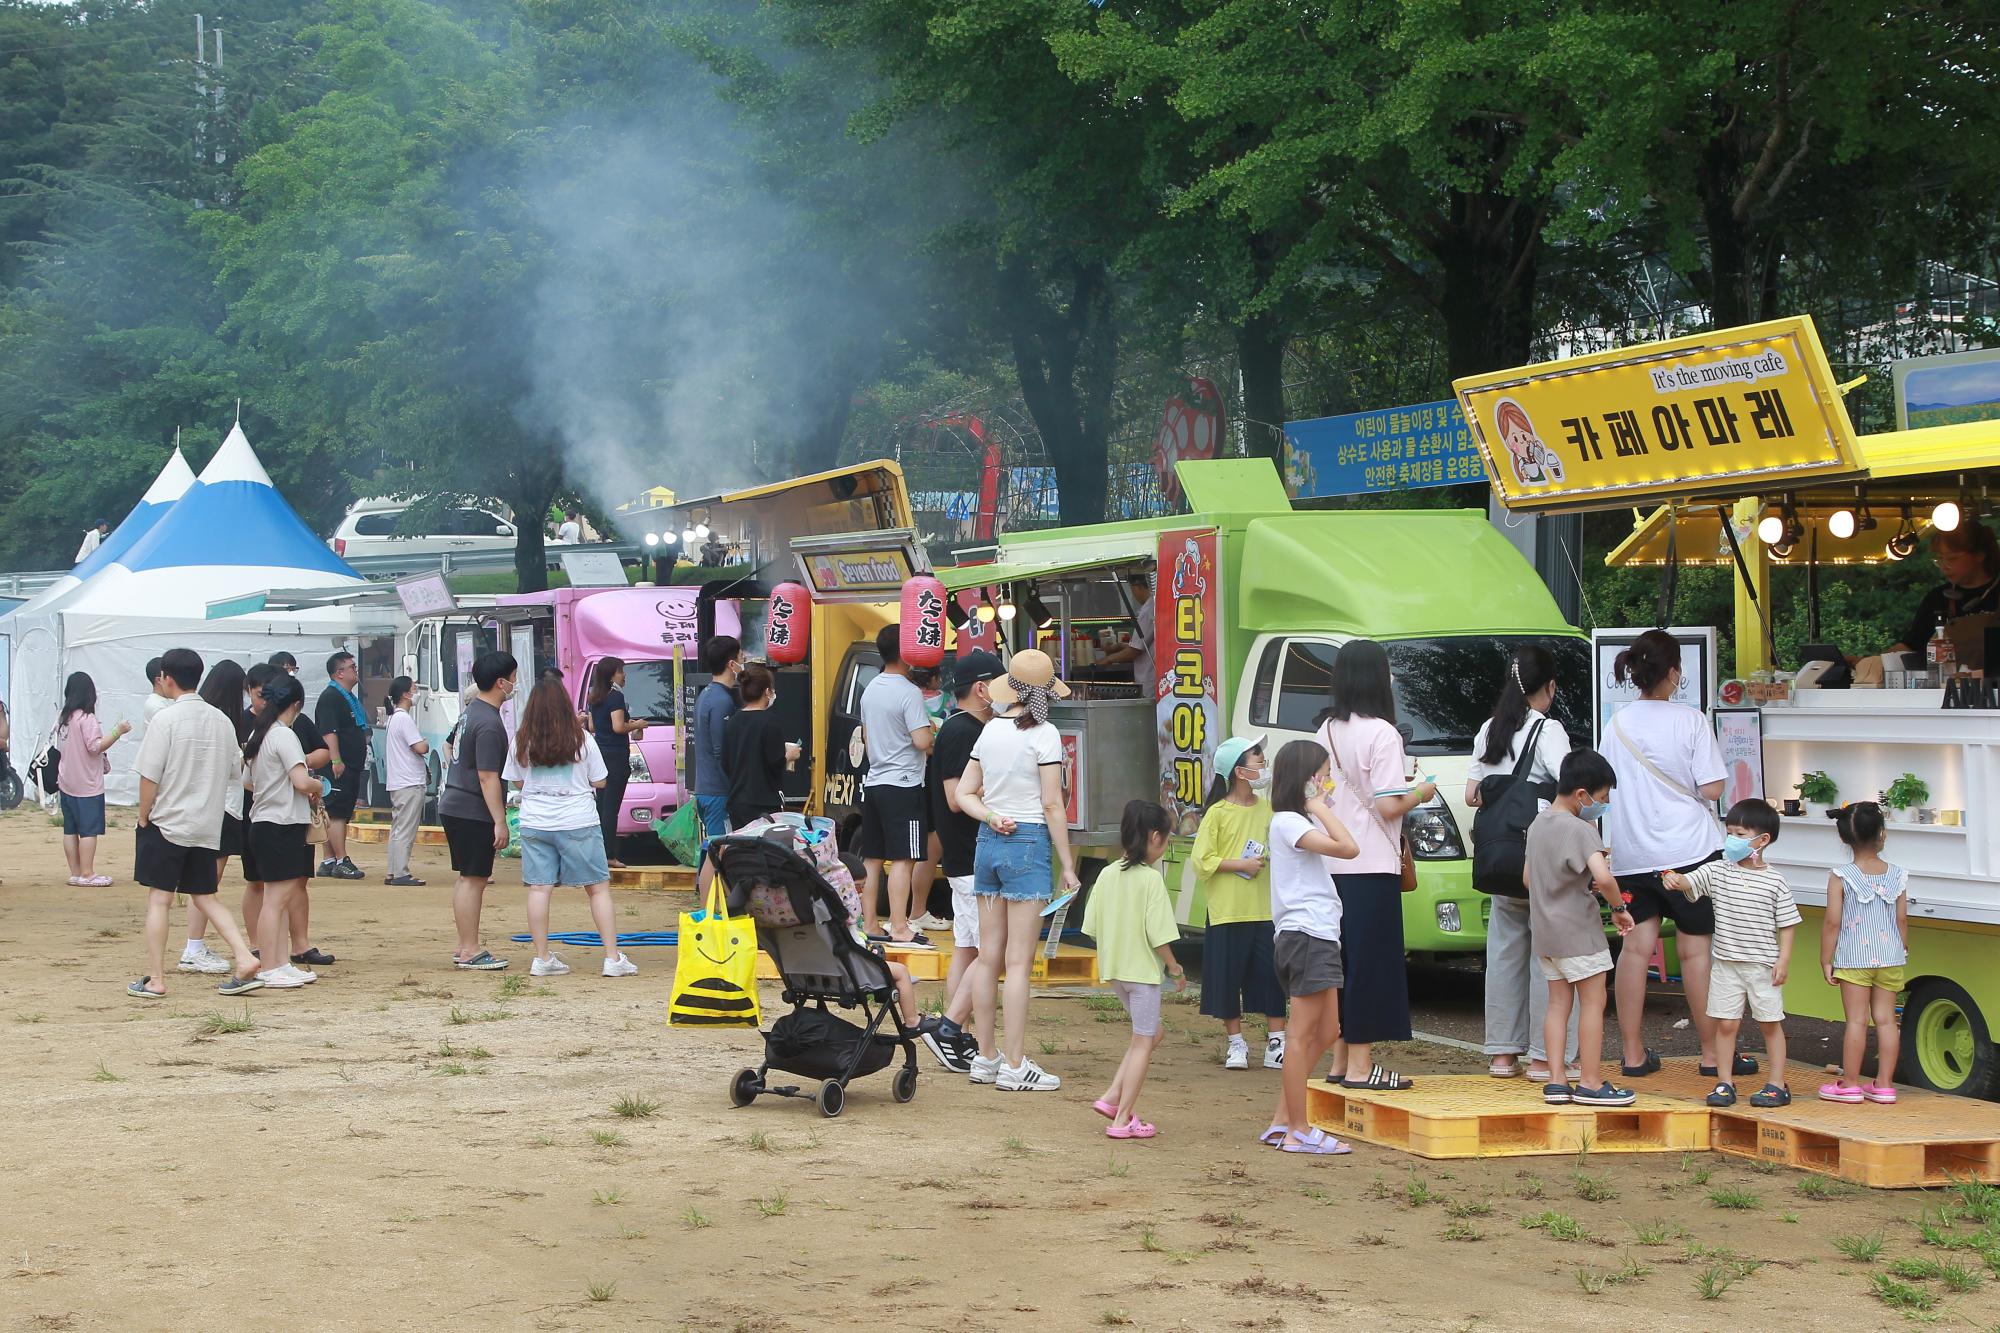
[[[1530,1095],[1532,1091],[1532,1095]],[[1306,1119],[1320,1129],[1416,1157],[1688,1153],[1708,1147],[1708,1111],[1664,1097],[1630,1107],[1550,1107],[1536,1085],[1430,1075],[1402,1093],[1306,1085]]]

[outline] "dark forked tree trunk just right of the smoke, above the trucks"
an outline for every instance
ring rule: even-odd
[[[1038,288],[1040,278],[1026,260],[1010,262],[1000,274],[1000,306],[1020,396],[1056,468],[1064,526],[1102,522],[1118,374],[1110,272],[1102,264],[1076,268],[1062,310],[1050,308]]]

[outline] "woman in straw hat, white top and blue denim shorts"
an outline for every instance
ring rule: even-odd
[[[960,983],[972,987],[980,1039],[972,1081],[994,1083],[1002,1093],[1052,1093],[1062,1079],[1028,1059],[1028,975],[1042,935],[1042,905],[1054,897],[1056,863],[1068,893],[1080,883],[1062,799],[1062,737],[1048,721],[1050,703],[1068,699],[1070,687],[1056,679],[1046,652],[1028,648],[988,689],[998,717],[986,723],[958,779],[960,813],[984,825],[972,853],[980,957]],[[1002,965],[1004,1037],[996,1047],[994,989]]]

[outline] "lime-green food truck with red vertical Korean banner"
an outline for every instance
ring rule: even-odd
[[[1084,881],[1118,855],[1126,801],[1158,801],[1174,817],[1174,911],[1198,931],[1188,849],[1216,747],[1264,735],[1276,753],[1312,737],[1340,646],[1366,636],[1388,650],[1406,749],[1438,783],[1404,821],[1418,875],[1404,943],[1484,951],[1490,899],[1472,889],[1464,807],[1474,733],[1516,644],[1550,646],[1580,679],[1588,640],[1484,510],[1294,510],[1264,458],[1182,462],[1178,474],[1188,514],[1012,532],[990,562],[936,570],[960,646],[1040,646],[1074,691],[1050,721]],[[1150,638],[1150,658],[1134,634]],[[1580,701],[1556,703],[1576,709],[1568,727],[1586,725]]]

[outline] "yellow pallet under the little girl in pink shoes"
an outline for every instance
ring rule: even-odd
[[[1792,1063],[1786,1069],[1792,1105],[1758,1111],[1748,1097],[1766,1079],[1762,1071],[1736,1079],[1742,1101],[1710,1111],[1710,1143],[1718,1153],[1836,1175],[1872,1189],[1922,1189],[1952,1177],[2000,1185],[2000,1105],[1914,1087],[1898,1087],[1888,1107],[1820,1101],[1828,1073]],[[1660,1073],[1634,1083],[1686,1101],[1700,1101],[1714,1087],[1692,1059],[1666,1061]]]

